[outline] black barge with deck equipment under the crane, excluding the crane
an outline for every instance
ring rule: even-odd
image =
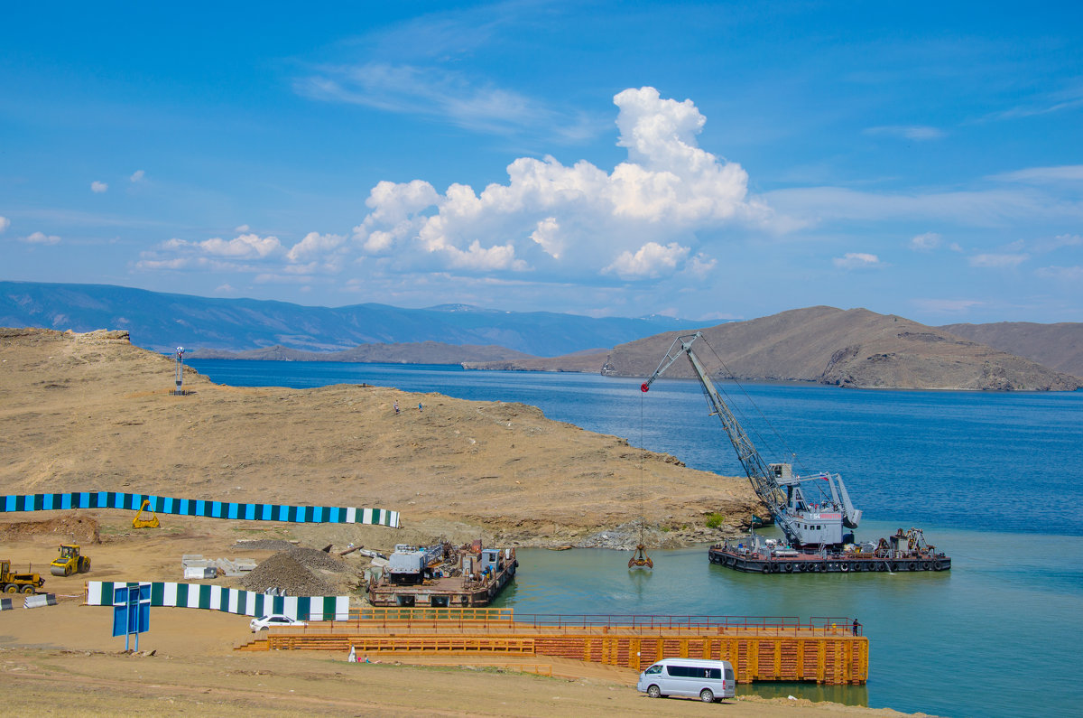
[[[921,529],[900,528],[878,543],[848,543],[797,550],[752,534],[741,542],[723,541],[707,550],[710,563],[749,574],[848,574],[861,572],[949,570],[951,557],[925,542]]]

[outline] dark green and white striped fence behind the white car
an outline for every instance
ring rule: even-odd
[[[86,604],[112,606],[114,588],[147,584],[152,606],[204,608],[243,616],[283,614],[298,620],[342,620],[350,615],[348,595],[266,595],[223,586],[162,581],[87,581]]]

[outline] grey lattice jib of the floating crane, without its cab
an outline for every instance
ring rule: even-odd
[[[787,522],[785,521],[785,505],[786,505],[786,495],[779,483],[774,480],[771,471],[768,469],[767,464],[764,463],[762,457],[759,456],[759,451],[753,445],[748,435],[745,434],[741,424],[738,423],[736,418],[733,412],[730,411],[729,405],[722,400],[721,395],[715,385],[712,383],[710,377],[707,375],[706,370],[703,364],[700,363],[699,357],[692,351],[692,343],[695,339],[703,336],[701,332],[695,334],[687,334],[683,336],[678,336],[674,339],[674,343],[669,347],[669,351],[666,352],[665,358],[658,364],[658,368],[651,374],[651,377],[643,382],[641,388],[645,392],[651,384],[661,376],[669,367],[673,366],[681,355],[688,357],[689,363],[692,364],[692,371],[695,373],[696,377],[700,380],[700,384],[703,387],[704,396],[707,398],[707,403],[710,405],[713,414],[717,415],[722,422],[722,428],[726,429],[726,435],[730,437],[730,444],[733,445],[733,450],[736,451],[738,460],[741,461],[741,465],[744,466],[745,474],[748,475],[748,480],[752,482],[752,487],[756,491],[756,496],[767,504],[768,510],[774,520],[780,524],[780,526],[785,529],[787,527]],[[691,338],[689,338],[691,337]],[[688,339],[686,342],[686,338]],[[679,348],[678,348],[678,345]]]

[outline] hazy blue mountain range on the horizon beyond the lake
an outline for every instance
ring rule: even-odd
[[[452,346],[495,345],[513,352],[553,357],[605,349],[658,332],[697,325],[702,322],[661,316],[595,319],[467,305],[428,309],[381,304],[305,307],[285,302],[162,294],[106,284],[0,282],[0,326],[76,332],[127,330],[132,344],[156,351],[172,351],[178,346],[197,351],[245,351],[276,345],[337,351],[364,344],[439,342]],[[496,357],[490,355],[490,358]]]

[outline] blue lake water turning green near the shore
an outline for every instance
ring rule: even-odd
[[[453,367],[193,360],[224,384],[368,383],[521,401],[549,419],[627,438],[688,465],[743,475],[692,381],[466,372]],[[917,526],[952,556],[947,573],[759,576],[702,548],[651,551],[627,569],[600,550],[519,552],[500,597],[519,613],[856,616],[870,638],[861,688],[742,687],[944,716],[1080,715],[1083,668],[1083,393],[854,390],[722,383],[768,461],[846,478],[875,540]],[[554,486],[554,492],[559,487]],[[389,507],[394,508],[394,507]]]

